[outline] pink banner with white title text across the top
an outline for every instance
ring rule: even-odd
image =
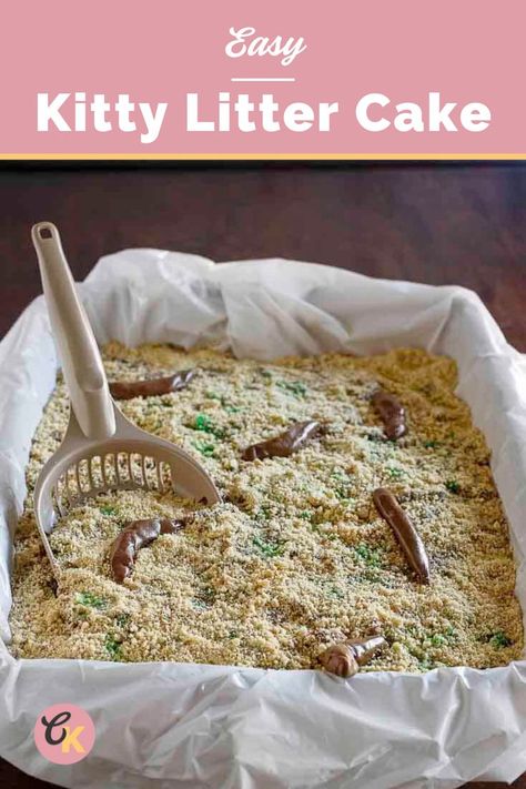
[[[526,154],[524,0],[18,0],[0,154]]]

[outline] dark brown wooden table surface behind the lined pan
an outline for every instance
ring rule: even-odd
[[[0,335],[41,292],[29,236],[40,220],[59,225],[77,279],[102,254],[155,246],[464,285],[526,352],[523,163],[4,165]],[[0,786],[50,785],[0,762]]]

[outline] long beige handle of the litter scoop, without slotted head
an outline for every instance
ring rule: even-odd
[[[31,230],[51,328],[71,405],[88,438],[109,438],[115,432],[113,401],[88,315],[77,294],[60,234],[51,222]]]

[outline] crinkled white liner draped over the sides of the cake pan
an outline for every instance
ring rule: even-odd
[[[99,342],[213,344],[270,360],[398,345],[453,356],[458,393],[493,451],[526,610],[526,362],[478,297],[281,260],[214,265],[156,250],[103,257],[81,285]],[[0,628],[32,434],[57,358],[42,299],[0,343]],[[33,745],[41,710],[69,701],[97,739],[70,767]],[[0,643],[0,755],[64,787],[457,787],[526,770],[526,661],[477,671],[318,671],[14,660]]]

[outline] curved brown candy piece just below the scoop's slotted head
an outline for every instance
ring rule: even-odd
[[[128,524],[110,549],[110,564],[117,583],[122,584],[131,575],[138,550],[153,543],[160,534],[175,534],[184,526],[184,520],[171,518],[132,520]]]

